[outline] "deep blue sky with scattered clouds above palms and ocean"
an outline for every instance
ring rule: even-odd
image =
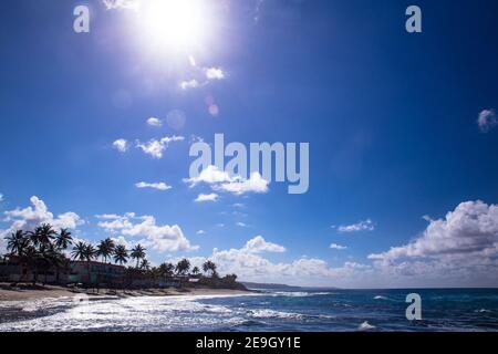
[[[1,232],[49,220],[256,281],[498,285],[496,1],[417,1],[417,34],[407,1],[206,3],[188,50],[151,45],[136,10],[102,1],[2,9]],[[196,202],[215,191],[184,181],[189,147],[216,133],[310,143],[310,190]],[[162,158],[137,147],[166,136],[184,139]]]

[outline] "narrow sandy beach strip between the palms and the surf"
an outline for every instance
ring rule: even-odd
[[[24,284],[22,284],[24,285]],[[9,304],[15,301],[74,298],[87,295],[90,300],[126,299],[137,296],[210,296],[210,295],[252,295],[255,291],[243,291],[235,289],[212,289],[212,288],[188,288],[188,289],[144,289],[144,290],[110,290],[100,289],[69,289],[64,287],[18,287],[10,289],[6,284],[0,285],[0,304]]]

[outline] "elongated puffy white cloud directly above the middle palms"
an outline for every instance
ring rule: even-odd
[[[116,218],[113,218],[116,217]],[[158,252],[188,251],[198,249],[191,246],[177,225],[157,225],[152,216],[136,216],[134,212],[124,216],[97,216],[102,219],[98,227],[123,237],[143,237],[138,242]]]

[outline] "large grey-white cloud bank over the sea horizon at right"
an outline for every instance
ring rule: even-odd
[[[413,285],[496,287],[498,206],[466,201],[405,246],[369,256],[385,279]]]

